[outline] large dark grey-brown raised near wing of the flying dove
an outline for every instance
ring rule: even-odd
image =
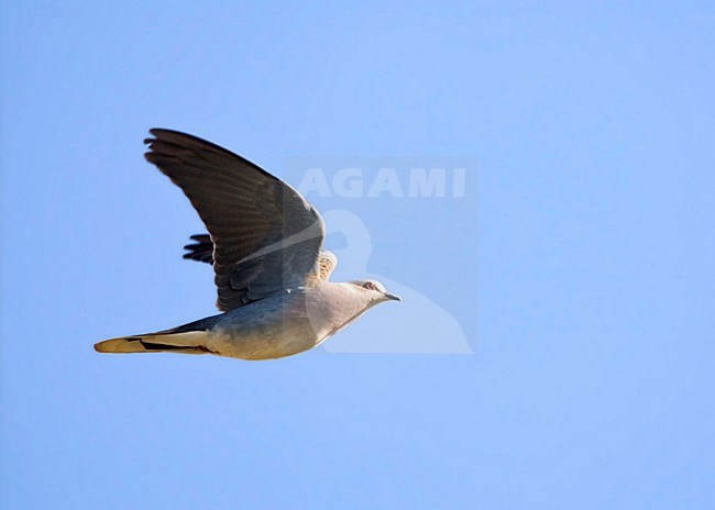
[[[209,231],[219,310],[315,285],[324,225],[296,190],[205,140],[169,130],[150,133],[146,160],[182,188]],[[205,239],[195,241],[206,245]],[[205,250],[198,254],[197,259],[208,256]]]

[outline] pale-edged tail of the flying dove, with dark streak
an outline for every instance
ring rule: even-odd
[[[162,331],[135,336],[120,336],[95,344],[98,353],[183,353],[207,354],[207,331]]]

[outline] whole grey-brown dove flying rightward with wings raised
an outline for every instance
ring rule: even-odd
[[[182,188],[208,234],[184,258],[213,266],[222,312],[95,344],[100,353],[216,354],[273,359],[308,351],[377,303],[400,299],[376,280],[329,281],[322,218],[286,182],[210,142],[150,130],[146,160]]]

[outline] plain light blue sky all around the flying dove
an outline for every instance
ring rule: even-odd
[[[712,508],[712,2],[297,3],[2,2],[2,508]],[[461,201],[312,200],[474,354],[96,354],[215,312],[152,126],[294,185],[475,158]]]

